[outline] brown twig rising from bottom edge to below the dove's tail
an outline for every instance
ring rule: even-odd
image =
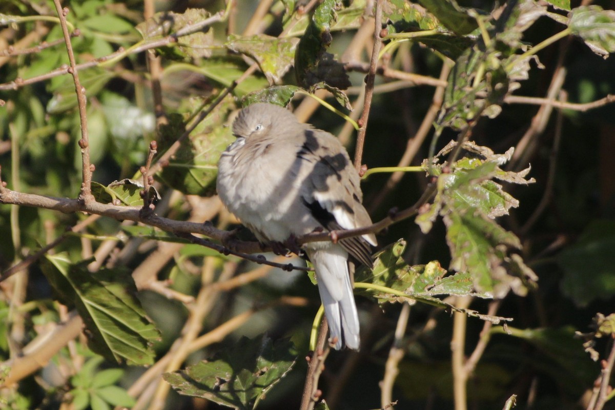
[[[323,316],[318,331],[316,350],[306,357],[306,360],[308,360],[308,375],[306,376],[306,382],[303,386],[300,410],[314,409],[316,402],[322,395],[322,392],[318,389],[318,380],[325,368],[325,360],[331,351],[331,347],[327,344],[328,331],[329,326],[327,324],[327,318]]]

